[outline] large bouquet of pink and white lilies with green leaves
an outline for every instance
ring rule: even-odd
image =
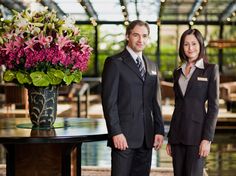
[[[74,21],[57,18],[55,11],[13,11],[3,20],[0,65],[3,79],[23,85],[49,86],[79,83],[92,48]]]

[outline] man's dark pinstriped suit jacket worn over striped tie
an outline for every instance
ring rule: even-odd
[[[164,135],[164,127],[157,97],[157,69],[143,56],[146,78],[142,80],[130,53],[108,57],[102,74],[102,105],[108,129],[108,145],[112,136],[123,133],[129,148],[138,148],[144,142],[153,146],[154,134]],[[158,96],[157,96],[158,95]],[[160,97],[160,96],[159,96]]]

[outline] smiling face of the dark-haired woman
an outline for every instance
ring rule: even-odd
[[[200,53],[200,44],[193,35],[187,35],[184,40],[184,53],[188,57],[189,62],[194,62]]]

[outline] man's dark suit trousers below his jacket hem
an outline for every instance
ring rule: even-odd
[[[144,145],[137,149],[112,148],[111,176],[149,176],[152,148]]]

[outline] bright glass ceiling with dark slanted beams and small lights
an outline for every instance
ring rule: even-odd
[[[11,9],[48,6],[81,24],[123,24],[135,19],[152,24],[234,24],[236,0],[0,0],[4,18]]]

